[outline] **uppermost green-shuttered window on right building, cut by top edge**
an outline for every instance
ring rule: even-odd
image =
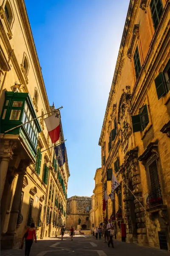
[[[161,14],[163,12],[162,1],[161,0],[151,0],[150,11],[151,11],[152,20],[153,20],[153,26],[154,26],[154,29],[156,29],[159,24]]]

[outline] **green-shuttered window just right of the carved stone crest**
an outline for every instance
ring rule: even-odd
[[[139,114],[132,116],[132,127],[133,132],[143,131],[149,123],[149,116],[147,113],[147,105],[145,104],[142,108],[139,108]]]

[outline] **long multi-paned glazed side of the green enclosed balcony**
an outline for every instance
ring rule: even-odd
[[[28,105],[27,103],[25,104],[25,108],[24,108],[24,113],[23,113],[23,123],[28,122],[30,120],[32,120],[32,115],[31,112],[29,111]],[[27,124],[24,125],[26,128],[26,131],[32,141],[32,143],[34,144],[35,148],[37,147],[37,141],[38,141],[38,130],[35,124],[35,121],[33,120],[32,122],[29,122]]]

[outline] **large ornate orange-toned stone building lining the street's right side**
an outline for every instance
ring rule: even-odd
[[[170,250],[170,0],[130,0],[99,145],[118,239]]]

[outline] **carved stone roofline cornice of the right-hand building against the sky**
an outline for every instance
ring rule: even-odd
[[[106,111],[105,111],[105,117],[104,117],[104,121],[103,121],[103,125],[102,125],[102,131],[101,131],[100,138],[99,138],[99,145],[100,146],[102,145],[102,137],[103,137],[104,130],[105,130],[105,124],[106,124],[106,121],[107,121],[108,111],[109,111],[109,108],[110,108],[110,105],[111,105],[111,102],[112,102],[112,99],[113,99],[113,94],[115,93],[114,89],[115,89],[115,86],[116,86],[116,82],[117,82],[117,79],[119,79],[119,74],[122,70],[122,66],[123,66],[123,63],[124,63],[124,60],[125,60],[123,58],[123,46],[125,44],[125,39],[127,37],[127,30],[129,28],[129,23],[131,21],[130,17],[132,15],[133,6],[138,5],[137,2],[138,1],[130,0],[130,3],[129,3],[129,8],[128,8],[128,11],[127,11],[127,16],[126,16],[125,26],[124,26],[124,30],[123,30],[122,40],[121,40],[121,44],[120,44],[120,48],[119,48],[119,54],[118,54],[118,58],[117,58],[117,61],[116,61],[116,67],[115,67],[115,71],[114,71],[113,81],[112,81],[112,84],[111,84],[111,90],[110,90],[110,93],[109,93],[108,103],[107,103],[107,107],[106,107]]]

